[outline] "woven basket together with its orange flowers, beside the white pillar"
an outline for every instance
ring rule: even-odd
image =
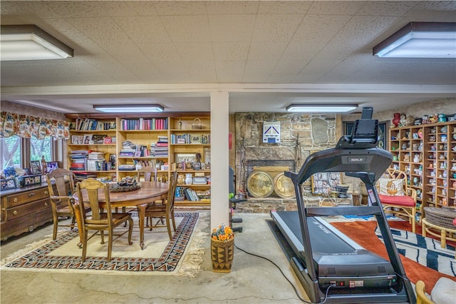
[[[212,230],[211,259],[212,270],[217,273],[229,273],[234,257],[234,233],[229,226],[219,226]]]

